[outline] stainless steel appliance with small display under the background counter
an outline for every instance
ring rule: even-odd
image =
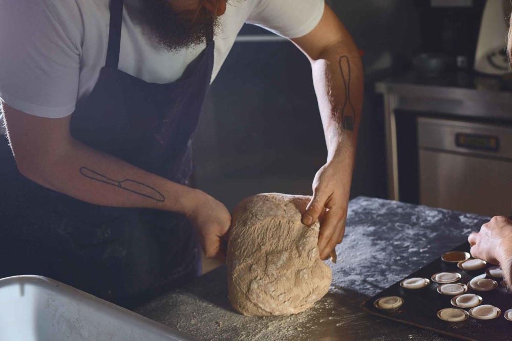
[[[512,126],[420,117],[417,128],[421,204],[512,213]]]

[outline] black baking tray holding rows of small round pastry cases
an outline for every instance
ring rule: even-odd
[[[470,244],[465,242],[452,251],[470,251]],[[448,250],[446,251],[448,252]],[[430,280],[430,285],[422,289],[404,289],[400,286],[400,280],[389,288],[376,294],[367,300],[361,307],[378,316],[386,319],[406,323],[433,330],[442,334],[459,337],[470,341],[504,341],[512,340],[512,322],[504,317],[505,311],[512,309],[512,292],[501,285],[501,279],[494,279],[498,282],[498,288],[491,291],[475,291],[468,288],[467,293],[476,293],[482,297],[482,304],[490,304],[501,309],[501,315],[493,320],[476,320],[468,317],[462,322],[446,322],[437,317],[437,312],[443,308],[454,307],[450,300],[453,296],[447,296],[437,292],[439,284],[431,280],[432,275],[441,271],[458,272],[462,278],[459,283],[468,284],[476,276],[485,274],[485,269],[493,266],[487,264],[485,268],[473,271],[461,270],[457,263],[448,263],[441,260],[441,257],[432,263],[423,266],[421,269],[413,272],[406,278],[423,277]],[[405,279],[405,278],[404,278]],[[404,300],[403,305],[397,310],[385,311],[376,308],[373,304],[375,300],[385,296],[399,296]],[[469,308],[464,309],[466,311]]]

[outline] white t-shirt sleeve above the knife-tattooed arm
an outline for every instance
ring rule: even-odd
[[[80,46],[51,0],[0,0],[0,98],[62,118],[77,99]]]

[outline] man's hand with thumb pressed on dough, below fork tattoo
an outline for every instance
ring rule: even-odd
[[[302,222],[311,225],[320,218],[318,248],[322,259],[326,259],[343,240],[351,175],[352,172],[343,169],[341,163],[331,161],[316,172],[313,180],[313,197],[302,216]]]

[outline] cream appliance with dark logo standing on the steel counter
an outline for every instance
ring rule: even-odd
[[[488,0],[483,11],[475,54],[475,70],[500,76],[510,72],[506,54],[509,0]]]

